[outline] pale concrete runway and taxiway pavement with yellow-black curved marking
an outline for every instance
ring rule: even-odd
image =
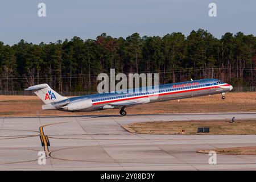
[[[256,113],[81,115],[0,118],[1,170],[255,170],[256,155],[217,155],[208,148],[255,146],[256,135],[131,134],[121,125],[148,121],[255,119]],[[38,164],[38,152],[47,154]]]

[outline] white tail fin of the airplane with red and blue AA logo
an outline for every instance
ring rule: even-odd
[[[67,99],[67,97],[63,97],[60,94],[58,94],[57,92],[55,92],[53,89],[51,89],[51,87],[49,87],[48,84],[39,84],[39,85],[30,86],[24,90],[26,90],[26,91],[34,90],[35,91],[34,93],[36,94],[36,96],[38,96],[46,104],[44,106],[52,107],[51,106],[52,102],[58,102],[58,101]],[[47,109],[47,108],[45,108],[45,109]],[[55,109],[55,108],[52,107],[52,109]]]

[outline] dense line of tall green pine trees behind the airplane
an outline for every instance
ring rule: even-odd
[[[97,89],[97,75],[159,73],[160,83],[220,78],[234,86],[255,85],[256,38],[227,32],[220,39],[208,31],[193,30],[160,36],[134,33],[95,40],[75,36],[55,43],[13,46],[0,42],[0,88],[22,90],[46,82],[59,92]]]

